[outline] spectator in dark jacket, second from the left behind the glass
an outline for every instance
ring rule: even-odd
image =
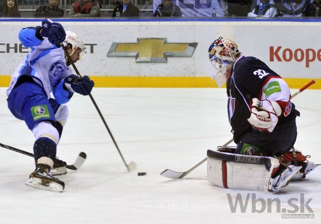
[[[65,11],[59,8],[59,0],[48,0],[48,4],[40,6],[36,12],[35,17],[62,17]]]

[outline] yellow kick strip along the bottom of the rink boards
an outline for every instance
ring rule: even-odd
[[[90,76],[95,87],[137,87],[137,88],[217,88],[210,77],[136,77],[136,76]],[[284,78],[291,89],[300,89],[312,79]],[[309,89],[321,89],[321,79]],[[0,75],[0,87],[8,87],[9,75]],[[225,87],[225,86],[223,86]]]

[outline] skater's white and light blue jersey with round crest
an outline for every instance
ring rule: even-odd
[[[51,44],[46,37],[38,39],[36,32],[37,28],[25,28],[19,33],[21,43],[31,47],[31,51],[12,74],[6,94],[9,96],[19,78],[27,75],[43,88],[47,98],[52,92],[58,103],[65,103],[70,94],[63,89],[64,79],[72,75],[72,70],[66,65],[64,50]]]

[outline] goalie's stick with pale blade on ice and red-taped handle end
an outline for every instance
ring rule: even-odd
[[[304,87],[302,87],[301,89],[299,89],[295,94],[293,94],[291,96],[291,99],[295,96],[297,96],[299,93],[303,92],[305,89],[309,88],[311,85],[315,84],[316,80],[312,79],[308,84],[306,84]],[[227,143],[225,143],[223,146],[227,146],[228,144],[230,144],[231,142],[233,142],[233,138],[228,141]],[[161,172],[161,176],[167,177],[167,178],[171,178],[171,179],[180,179],[185,177],[186,175],[188,175],[190,172],[192,172],[193,170],[195,170],[197,167],[199,167],[202,163],[204,163],[207,160],[207,157],[203,160],[201,160],[198,164],[196,164],[195,166],[193,166],[192,168],[190,168],[189,170],[185,171],[185,172],[177,172],[171,169],[165,169],[164,171]]]

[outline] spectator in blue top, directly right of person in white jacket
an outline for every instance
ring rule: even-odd
[[[313,0],[275,0],[277,8],[280,10],[280,16],[300,17],[304,9]]]

